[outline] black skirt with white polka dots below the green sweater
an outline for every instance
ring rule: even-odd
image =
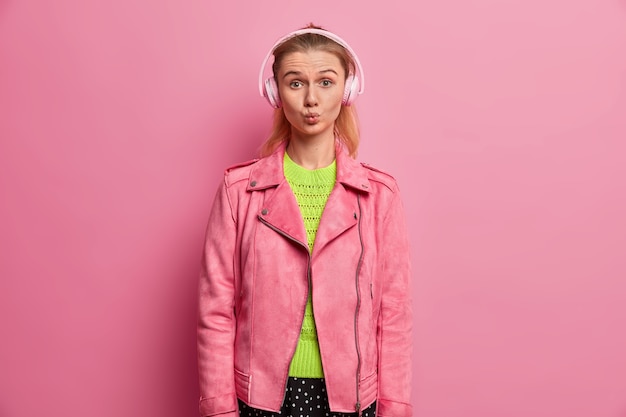
[[[324,379],[289,378],[280,413],[249,407],[239,400],[240,417],[356,417],[357,413],[336,413],[328,407]],[[361,412],[362,417],[376,417],[376,403]]]

